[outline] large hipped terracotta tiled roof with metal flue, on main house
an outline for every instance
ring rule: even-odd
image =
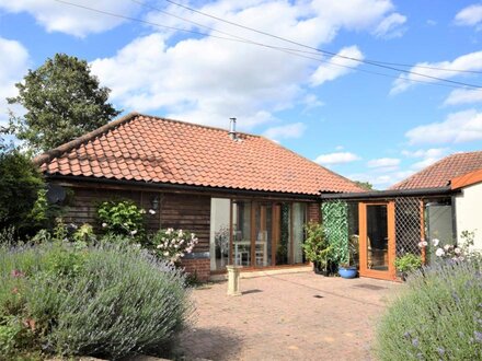
[[[362,191],[260,136],[130,114],[35,162],[46,174],[318,195]]]

